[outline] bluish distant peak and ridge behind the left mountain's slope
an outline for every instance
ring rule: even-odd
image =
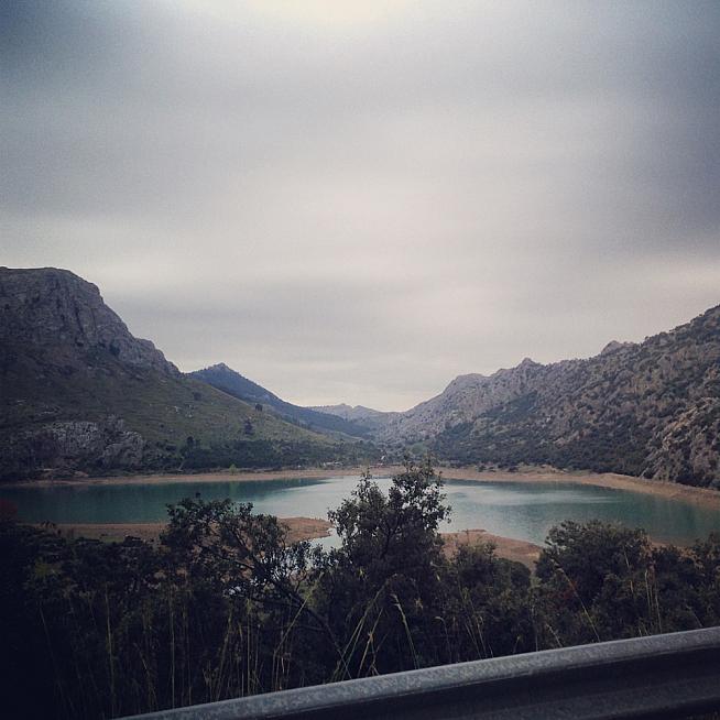
[[[345,435],[354,437],[367,437],[369,434],[370,427],[364,425],[361,418],[357,418],[358,422],[353,422],[349,417],[342,417],[335,413],[326,413],[315,407],[293,405],[281,400],[262,385],[243,378],[239,372],[228,368],[223,362],[205,368],[205,370],[190,372],[189,377],[248,403],[268,405],[284,419],[298,423],[316,432],[343,433]]]

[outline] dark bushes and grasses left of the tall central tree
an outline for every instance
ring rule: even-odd
[[[9,717],[113,717],[320,681],[294,662],[334,653],[306,602],[309,544],[251,510],[185,500],[159,547],[0,526],[2,677],[23,703],[7,702]]]

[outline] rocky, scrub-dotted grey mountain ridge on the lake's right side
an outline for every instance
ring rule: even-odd
[[[720,306],[588,360],[456,378],[375,433],[461,462],[550,463],[720,487]]]

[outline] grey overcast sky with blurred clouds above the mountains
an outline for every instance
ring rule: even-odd
[[[720,303],[720,3],[0,0],[0,264],[406,410]]]

